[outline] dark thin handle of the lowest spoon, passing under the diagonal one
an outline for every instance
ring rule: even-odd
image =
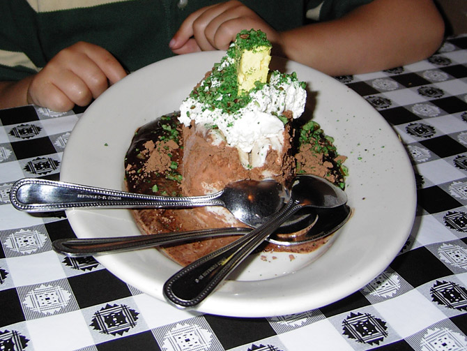
[[[138,248],[174,244],[206,237],[247,234],[249,232],[251,232],[250,228],[229,227],[194,230],[191,232],[133,235],[131,237],[57,239],[52,242],[52,247],[57,253],[67,255],[68,257],[83,257],[100,253],[116,253],[136,250]]]

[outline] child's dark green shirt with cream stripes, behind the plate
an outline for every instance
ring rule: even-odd
[[[372,0],[243,1],[277,31],[332,20]],[[171,57],[187,15],[219,0],[0,0],[0,81],[36,73],[79,40],[109,50],[134,71]]]

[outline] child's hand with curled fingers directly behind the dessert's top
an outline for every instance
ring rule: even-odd
[[[175,54],[207,50],[227,50],[242,29],[261,29],[277,43],[280,35],[257,13],[240,1],[228,1],[200,8],[182,23],[169,46]]]

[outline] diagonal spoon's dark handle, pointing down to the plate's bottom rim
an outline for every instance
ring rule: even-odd
[[[248,254],[302,207],[302,204],[288,202],[266,223],[244,237],[183,267],[164,284],[164,296],[180,308],[197,306]]]

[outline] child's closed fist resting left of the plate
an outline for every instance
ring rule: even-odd
[[[127,73],[107,50],[79,42],[61,50],[34,75],[27,102],[55,111],[86,106]]]

